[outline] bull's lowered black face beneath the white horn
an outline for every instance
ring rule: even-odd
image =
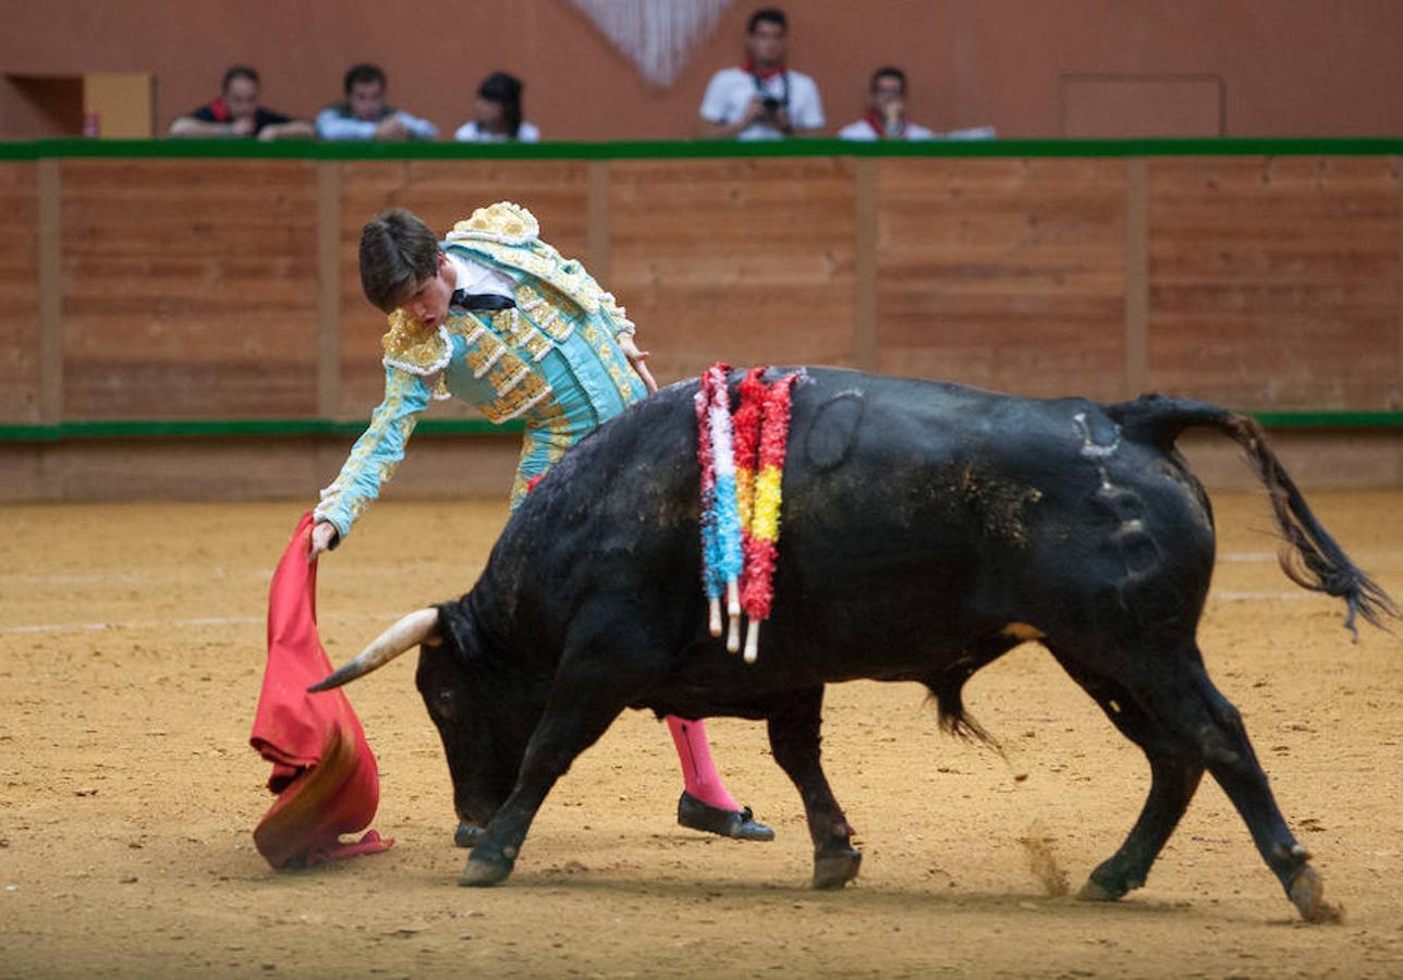
[[[450,642],[421,649],[414,684],[443,740],[457,817],[484,827],[512,791],[525,742],[518,743],[515,726],[498,719],[484,698],[474,700],[490,684],[474,686],[467,658]]]

